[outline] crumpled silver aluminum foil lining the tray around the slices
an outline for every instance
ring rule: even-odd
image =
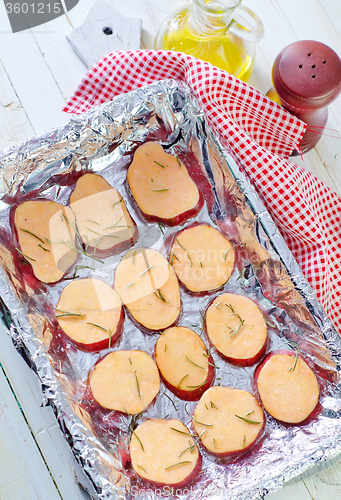
[[[255,300],[272,324],[269,350],[296,349],[304,353],[315,363],[323,387],[322,408],[316,419],[304,426],[285,426],[267,416],[263,440],[245,456],[218,459],[200,446],[202,471],[196,481],[182,490],[152,487],[138,478],[129,463],[129,436],[134,425],[150,417],[169,415],[190,426],[189,415],[195,402],[185,405],[162,385],[155,404],[136,422],[128,415],[118,417],[115,412],[95,410],[93,402],[87,399],[87,377],[99,357],[116,349],[138,348],[152,354],[158,335],[143,333],[126,317],[121,342],[104,352],[85,353],[70,341],[58,344],[49,311],[56,307],[75,269],[54,285],[32,285],[25,278],[23,262],[18,260],[10,223],[11,206],[23,199],[43,197],[67,204],[75,179],[92,171],[101,174],[123,195],[139,227],[135,247],[152,247],[166,255],[165,240],[180,228],[142,220],[126,185],[126,168],[135,149],[146,140],[157,141],[168,152],[177,154],[189,171],[199,163],[197,179],[206,194],[206,204],[195,220],[218,227],[236,249],[237,264],[224,291]],[[139,500],[252,499],[275,491],[300,474],[316,471],[315,466],[330,463],[340,453],[339,336],[238,166],[238,159],[208,128],[186,86],[167,80],[118,96],[72,118],[65,126],[3,152],[0,162],[3,320],[17,349],[37,372],[45,404],[53,406],[95,496]],[[78,267],[76,274],[112,284],[121,257],[122,254],[114,255],[100,263],[80,255],[76,264],[83,267]],[[27,267],[30,266],[26,264]],[[182,290],[179,323],[202,334],[202,313],[217,294],[196,297]],[[254,367],[232,366],[215,352],[213,357],[218,367],[215,384],[254,392]]]

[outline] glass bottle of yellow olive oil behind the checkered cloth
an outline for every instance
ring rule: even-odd
[[[240,1],[193,0],[165,20],[156,36],[154,48],[185,52],[247,81],[254,65],[255,52],[254,41],[250,40],[263,36],[263,25],[252,11],[238,7]],[[248,17],[249,24],[244,24],[250,26],[249,18],[253,22],[256,19],[256,34],[255,28],[237,23],[239,11],[244,18]]]

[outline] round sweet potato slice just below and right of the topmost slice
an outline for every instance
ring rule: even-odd
[[[178,233],[169,259],[179,280],[190,291],[206,292],[220,288],[230,278],[234,250],[217,229],[196,224]]]

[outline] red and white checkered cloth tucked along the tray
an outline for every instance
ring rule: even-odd
[[[341,198],[313,174],[287,161],[304,134],[302,122],[208,63],[153,50],[103,57],[88,71],[64,111],[82,113],[117,94],[167,78],[187,83],[211,128],[241,160],[341,333]]]

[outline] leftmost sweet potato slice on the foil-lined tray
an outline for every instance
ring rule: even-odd
[[[59,281],[77,259],[74,215],[50,200],[25,201],[14,214],[20,253],[43,283]]]

